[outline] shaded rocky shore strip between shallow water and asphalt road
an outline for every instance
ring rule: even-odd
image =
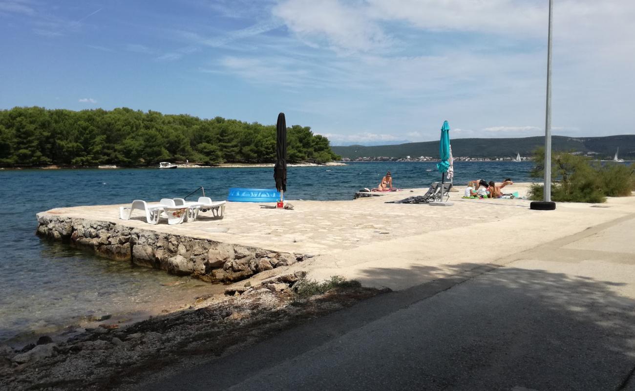
[[[307,295],[311,289],[303,291],[304,276],[296,272],[255,286],[234,284],[224,296],[199,298],[187,310],[125,329],[106,319],[100,327],[59,343],[42,337],[37,345],[21,350],[0,345],[0,388],[126,388],[147,380],[149,373],[156,375],[188,360],[220,357],[382,292],[336,279],[328,291]]]

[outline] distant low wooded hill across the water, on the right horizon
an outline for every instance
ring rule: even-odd
[[[516,139],[452,139],[452,154],[454,156],[471,156],[472,158],[505,158],[531,156],[537,147],[544,145],[544,137],[523,137]],[[566,137],[552,136],[551,144],[554,151],[572,151],[596,153],[599,159],[612,159],[617,148],[619,157],[625,160],[635,160],[635,135],[617,135],[606,137]],[[418,156],[438,156],[439,142],[408,142],[406,144],[389,146],[347,146],[331,147],[334,153],[342,158],[361,158],[372,156],[386,156],[389,158],[412,158]]]

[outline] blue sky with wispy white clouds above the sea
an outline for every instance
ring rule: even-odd
[[[333,145],[544,134],[547,0],[0,0],[0,109],[130,107]],[[552,133],[633,134],[635,1],[554,0]]]

